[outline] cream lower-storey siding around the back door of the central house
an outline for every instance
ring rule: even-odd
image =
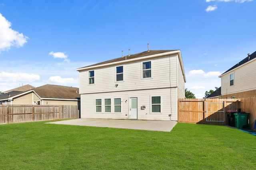
[[[112,92],[103,94],[82,94],[81,95],[81,118],[98,119],[129,119],[129,98],[138,98],[138,119],[139,120],[178,120],[177,114],[177,88],[165,88],[155,90],[138,90],[132,92]],[[150,113],[150,97],[161,96],[161,113]],[[104,99],[112,99],[112,112],[104,113]],[[114,98],[121,98],[121,113],[114,113]],[[102,99],[102,113],[95,112],[95,100]],[[142,110],[141,106],[146,109]],[[88,106],[88,107],[86,107]]]

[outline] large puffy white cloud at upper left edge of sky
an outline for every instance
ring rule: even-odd
[[[11,29],[11,23],[0,13],[0,53],[8,51],[12,46],[22,47],[29,39],[18,31]]]

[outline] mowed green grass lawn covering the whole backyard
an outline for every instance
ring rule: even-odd
[[[178,123],[171,132],[45,122],[0,125],[0,169],[256,169],[256,136]]]

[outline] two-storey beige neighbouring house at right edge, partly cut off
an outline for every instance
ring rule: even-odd
[[[252,53],[221,74],[222,98],[256,96],[256,52]]]

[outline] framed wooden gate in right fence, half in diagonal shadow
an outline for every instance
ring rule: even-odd
[[[220,103],[206,103],[206,121],[207,122],[225,122],[225,105]]]

